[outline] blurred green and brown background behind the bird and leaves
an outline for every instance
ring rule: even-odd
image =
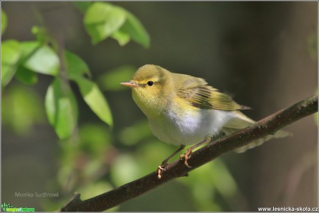
[[[78,191],[82,199],[140,178],[176,147],[159,142],[146,117],[119,87],[145,64],[205,78],[258,120],[316,93],[317,2],[112,2],[131,12],[150,46],[92,44],[83,12],[70,2],[1,2],[7,26],[1,42],[35,40],[45,26],[86,62],[110,106],[112,128],[99,119],[71,82],[78,122],[59,139],[45,112],[53,76],[17,78],[2,89],[1,203],[55,211]],[[285,128],[293,137],[243,154],[227,153],[112,211],[257,211],[257,207],[315,207],[318,200],[316,117]],[[57,198],[17,197],[58,193]]]

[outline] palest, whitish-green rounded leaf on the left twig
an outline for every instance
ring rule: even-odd
[[[24,66],[41,74],[57,76],[60,61],[55,51],[51,47],[44,45],[26,60]]]

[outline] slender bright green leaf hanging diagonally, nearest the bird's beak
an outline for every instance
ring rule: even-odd
[[[77,78],[76,83],[78,83],[80,93],[87,105],[89,105],[89,108],[91,108],[102,121],[112,126],[111,110],[98,86],[86,78]]]

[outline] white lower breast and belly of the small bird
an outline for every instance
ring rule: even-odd
[[[180,146],[198,144],[218,134],[233,116],[232,112],[223,110],[170,111],[161,117],[148,118],[148,121],[158,139]]]

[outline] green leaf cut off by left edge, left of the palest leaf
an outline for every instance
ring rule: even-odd
[[[5,87],[17,71],[21,50],[19,42],[8,40],[1,45],[1,87]]]

